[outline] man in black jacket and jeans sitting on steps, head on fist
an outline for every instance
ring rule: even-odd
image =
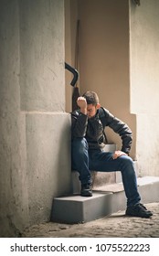
[[[80,173],[82,197],[91,197],[90,171],[121,171],[122,183],[127,197],[126,215],[150,218],[153,213],[140,203],[132,158],[132,131],[126,123],[101,108],[97,93],[87,91],[77,100],[79,110],[71,113],[72,169]],[[122,138],[122,150],[113,154],[104,152],[104,128],[109,126]]]

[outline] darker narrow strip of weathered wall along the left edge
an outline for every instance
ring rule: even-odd
[[[12,236],[28,220],[25,145],[21,142],[25,121],[20,114],[18,1],[0,4],[0,233]]]

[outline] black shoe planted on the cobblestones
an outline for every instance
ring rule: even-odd
[[[142,204],[128,207],[125,214],[128,216],[141,218],[150,218],[151,216],[153,216],[153,213],[150,210],[147,210]]]

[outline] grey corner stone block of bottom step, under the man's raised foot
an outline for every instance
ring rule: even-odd
[[[92,197],[56,197],[51,221],[80,223],[111,214],[112,193],[94,192]]]

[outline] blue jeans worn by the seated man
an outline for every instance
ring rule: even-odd
[[[121,171],[122,183],[127,197],[127,206],[140,202],[141,197],[137,189],[136,175],[132,158],[122,155],[117,159],[112,158],[112,153],[100,149],[89,150],[85,138],[76,138],[71,147],[72,169],[80,173],[81,185],[90,184],[90,170],[99,172]]]

